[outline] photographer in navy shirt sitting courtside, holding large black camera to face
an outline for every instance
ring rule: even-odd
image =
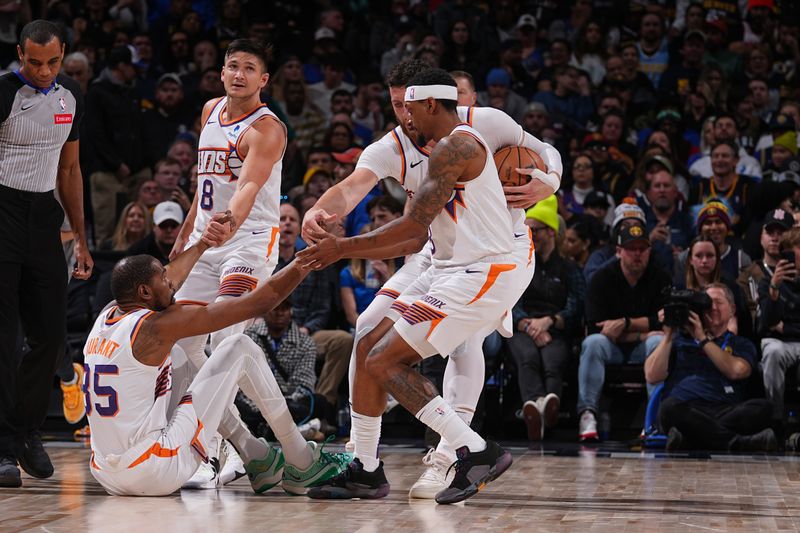
[[[745,400],[757,363],[749,340],[728,331],[736,312],[722,283],[704,292],[673,291],[664,308],[664,337],[644,364],[650,384],[664,382],[658,412],[667,451],[773,451],[767,400]]]

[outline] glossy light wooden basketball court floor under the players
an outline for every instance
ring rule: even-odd
[[[88,451],[48,445],[56,474],[0,489],[0,531],[389,532],[800,531],[800,462],[782,456],[571,454],[514,449],[514,465],[465,504],[409,501],[419,449],[383,450],[391,494],[378,501],[320,502],[246,480],[163,498],[106,495]]]

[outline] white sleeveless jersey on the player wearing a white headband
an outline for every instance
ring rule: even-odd
[[[431,223],[433,265],[437,268],[469,265],[514,249],[511,214],[491,149],[481,134],[466,124],[456,126],[450,135],[471,135],[486,154],[481,173],[470,181],[457,182],[450,200]]]

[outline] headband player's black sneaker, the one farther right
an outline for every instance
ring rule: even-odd
[[[450,486],[436,495],[436,503],[458,503],[475,496],[511,466],[511,454],[496,442],[486,441],[486,449],[471,452],[466,446],[456,450],[458,459],[450,468],[456,475]]]

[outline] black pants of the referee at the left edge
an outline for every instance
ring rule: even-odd
[[[0,185],[0,455],[41,427],[64,351],[63,220],[52,192]],[[31,348],[21,361],[20,323]]]

